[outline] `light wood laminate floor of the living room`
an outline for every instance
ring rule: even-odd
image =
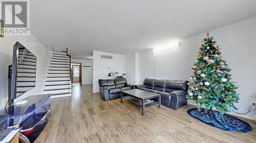
[[[104,101],[92,94],[92,85],[74,85],[72,90],[72,97],[50,100],[52,117],[36,142],[256,142],[255,130],[228,132],[190,117],[186,111],[192,105],[178,110],[154,105],[143,117],[141,107],[129,101]],[[256,129],[256,121],[243,120]]]

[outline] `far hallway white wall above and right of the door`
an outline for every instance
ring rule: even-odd
[[[93,84],[93,61],[92,60],[81,60],[81,59],[71,59],[71,63],[81,63],[82,64],[82,85]],[[83,66],[91,66],[86,68]]]

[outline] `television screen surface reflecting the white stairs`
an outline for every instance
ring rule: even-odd
[[[16,97],[35,87],[36,56],[26,48],[18,50]]]

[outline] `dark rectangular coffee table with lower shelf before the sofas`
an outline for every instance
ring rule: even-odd
[[[121,103],[123,98],[142,107],[141,115],[145,115],[145,107],[158,104],[158,108],[161,107],[161,95],[157,93],[142,91],[138,89],[127,90],[121,92]],[[153,99],[158,98],[158,102]],[[152,100],[152,101],[147,101]]]

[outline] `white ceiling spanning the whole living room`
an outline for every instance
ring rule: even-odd
[[[33,0],[31,33],[72,58],[164,45],[256,16],[255,0]]]

